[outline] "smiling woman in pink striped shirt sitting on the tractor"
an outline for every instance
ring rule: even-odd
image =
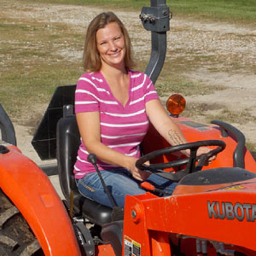
[[[144,180],[173,191],[177,183],[135,166],[139,144],[150,121],[172,145],[187,143],[160,104],[154,84],[144,73],[132,71],[131,42],[123,23],[112,12],[90,22],[84,44],[84,73],[75,94],[75,112],[82,138],[74,173],[81,194],[111,207],[95,168],[87,161],[96,154],[97,165],[118,206],[125,195],[146,191]],[[202,153],[208,148],[200,149]],[[184,152],[189,155],[189,152]]]

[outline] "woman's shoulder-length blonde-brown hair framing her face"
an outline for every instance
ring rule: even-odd
[[[101,69],[102,61],[96,46],[96,32],[111,22],[119,25],[125,38],[125,67],[131,69],[136,66],[136,62],[132,57],[131,40],[124,24],[113,12],[107,12],[97,15],[90,21],[90,25],[88,26],[84,41],[83,61],[85,71],[97,72]]]

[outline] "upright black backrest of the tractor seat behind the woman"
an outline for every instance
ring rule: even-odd
[[[71,189],[78,191],[73,175],[73,166],[80,145],[79,127],[75,115],[59,119],[56,139],[59,179],[62,193],[68,200]]]

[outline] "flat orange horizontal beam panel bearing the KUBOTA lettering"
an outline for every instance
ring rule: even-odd
[[[144,201],[143,205],[148,230],[223,241],[256,251],[253,242],[256,212],[252,205],[255,199],[255,191],[244,189],[177,195]],[[226,207],[224,213],[226,204],[230,208]],[[158,218],[154,218],[155,212],[158,212]]]

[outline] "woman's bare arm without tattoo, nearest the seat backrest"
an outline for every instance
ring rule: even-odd
[[[148,177],[146,172],[142,172],[136,168],[135,162],[137,158],[121,154],[101,143],[99,112],[76,113],[76,118],[79,125],[80,136],[89,153],[96,154],[99,160],[110,165],[125,167],[130,170],[132,176],[138,180],[144,180]]]

